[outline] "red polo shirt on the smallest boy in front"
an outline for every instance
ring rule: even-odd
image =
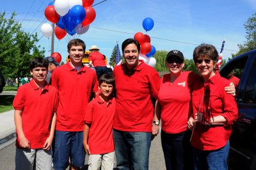
[[[84,122],[91,124],[88,136],[91,154],[110,153],[115,150],[112,133],[115,106],[115,98],[110,99],[107,104],[99,96],[88,104]]]

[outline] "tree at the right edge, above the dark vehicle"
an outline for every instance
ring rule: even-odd
[[[236,55],[256,48],[256,13],[248,18],[247,22],[244,24],[244,28],[246,29],[246,41],[243,45],[238,45],[239,52],[237,52]]]

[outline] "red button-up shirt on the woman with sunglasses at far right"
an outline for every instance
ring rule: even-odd
[[[229,86],[230,81],[216,74],[207,82],[210,83],[210,103],[213,117],[223,116],[227,120],[225,125],[202,125],[196,123],[191,145],[200,150],[216,150],[227,144],[232,132],[232,124],[238,117],[237,104],[234,96],[227,94],[224,87]],[[198,112],[202,97],[204,96],[204,80],[193,84],[192,107],[193,114]],[[204,100],[200,110],[204,113]]]

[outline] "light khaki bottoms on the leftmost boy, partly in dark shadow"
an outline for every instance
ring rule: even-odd
[[[15,169],[51,170],[51,159],[51,150],[16,148]]]

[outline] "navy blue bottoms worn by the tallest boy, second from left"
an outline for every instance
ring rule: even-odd
[[[69,164],[69,158],[71,159],[72,165],[80,168],[84,167],[83,131],[55,131],[54,169],[66,169]]]

